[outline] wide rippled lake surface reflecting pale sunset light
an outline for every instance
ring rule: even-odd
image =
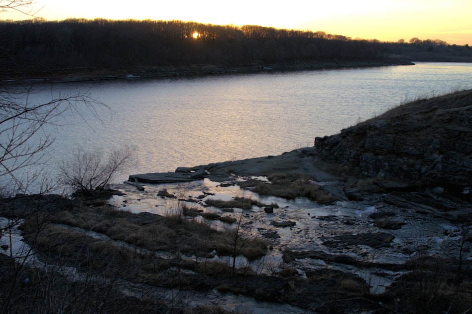
[[[111,109],[103,123],[77,116],[48,128],[56,141],[49,165],[77,148],[105,151],[131,143],[133,165],[118,175],[173,171],[312,146],[341,129],[418,96],[472,88],[472,64],[418,63],[368,69],[267,72],[212,77],[38,84],[47,101],[88,91]]]

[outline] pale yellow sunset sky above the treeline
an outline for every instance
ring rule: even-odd
[[[4,1],[0,1],[2,3]],[[472,0],[34,0],[31,12],[47,20],[70,17],[183,20],[324,31],[362,39],[413,37],[472,45]],[[39,11],[38,11],[39,10]],[[26,19],[1,12],[0,19]]]

